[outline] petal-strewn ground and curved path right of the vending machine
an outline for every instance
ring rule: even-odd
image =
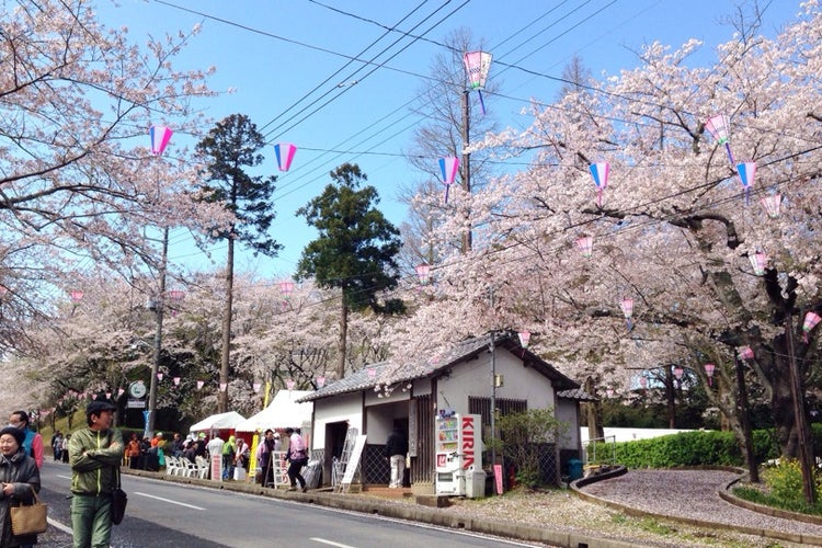
[[[452,505],[441,511],[616,539],[635,546],[796,546],[783,540],[737,533],[722,527],[723,524],[822,537],[822,526],[769,517],[720,499],[717,491],[737,477],[735,473],[726,471],[629,470],[625,476],[592,483],[583,489],[585,493],[646,512],[717,524],[709,528],[653,517],[628,516],[618,510],[583,501],[567,490],[517,490],[504,496],[480,500],[453,499]]]

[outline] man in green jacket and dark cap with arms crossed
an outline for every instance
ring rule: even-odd
[[[85,408],[88,427],[69,441],[71,530],[75,548],[107,547],[112,536],[112,489],[123,460],[123,436],[112,430],[115,407],[94,400]]]

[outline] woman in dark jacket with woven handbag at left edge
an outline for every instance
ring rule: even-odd
[[[34,458],[23,448],[25,432],[14,426],[0,430],[0,520],[2,534],[0,546],[31,546],[37,544],[37,535],[16,536],[11,527],[11,509],[32,504],[39,492],[39,469]]]

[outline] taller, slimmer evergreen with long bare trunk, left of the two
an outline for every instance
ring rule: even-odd
[[[274,220],[271,195],[276,176],[252,176],[244,168],[260,165],[260,150],[265,139],[256,126],[242,114],[232,114],[219,122],[197,144],[197,152],[207,160],[203,186],[207,202],[221,204],[233,214],[235,220],[225,229],[213,232],[214,239],[226,241],[226,307],[222,318],[222,347],[220,353],[220,388],[228,386],[231,346],[231,309],[233,305],[235,241],[248,246],[254,255],[276,256],[282,246],[267,230]],[[228,389],[220,391],[220,412],[228,411]]]

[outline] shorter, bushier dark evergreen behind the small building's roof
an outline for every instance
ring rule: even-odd
[[[320,287],[342,289],[336,378],[345,374],[349,310],[370,308],[376,312],[402,310],[397,299],[380,304],[378,293],[397,286],[399,230],[374,207],[379,196],[374,186],[363,186],[365,173],[344,163],[330,173],[332,184],[297,210],[320,236],[302,250],[297,277],[313,276]]]

